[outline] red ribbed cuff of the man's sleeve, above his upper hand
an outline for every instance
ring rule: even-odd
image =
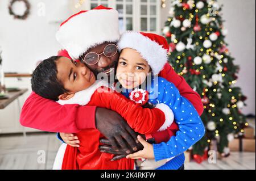
[[[78,129],[96,128],[96,106],[79,106],[77,108],[76,126]]]

